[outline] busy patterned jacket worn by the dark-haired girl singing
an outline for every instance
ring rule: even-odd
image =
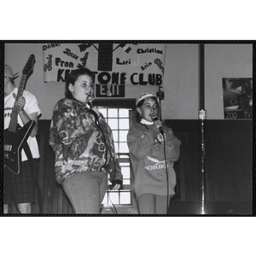
[[[76,172],[107,172],[111,183],[123,182],[113,134],[102,114],[95,114],[81,102],[62,99],[55,105],[49,131],[49,145],[55,153],[57,183]]]

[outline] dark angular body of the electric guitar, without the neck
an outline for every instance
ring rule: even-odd
[[[15,174],[20,173],[21,150],[30,136],[35,121],[30,120],[16,131],[4,131],[4,167]]]

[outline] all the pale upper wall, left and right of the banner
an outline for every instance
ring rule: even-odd
[[[64,83],[44,83],[42,44],[5,44],[4,61],[21,74],[29,55],[36,56],[34,72],[26,84],[38,96],[41,119],[51,119],[55,103],[64,96]],[[252,44],[206,44],[205,86],[207,119],[224,119],[222,78],[252,77]],[[199,44],[167,44],[162,102],[163,119],[198,119],[199,110]],[[15,84],[20,83],[20,78]],[[127,86],[126,97],[136,98],[154,86]]]

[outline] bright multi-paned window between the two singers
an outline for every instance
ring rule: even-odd
[[[126,143],[126,136],[131,126],[131,108],[98,108],[113,131],[113,143],[124,177],[123,186],[119,190],[111,190],[112,185],[108,181],[108,190],[102,204],[131,205],[131,164]]]

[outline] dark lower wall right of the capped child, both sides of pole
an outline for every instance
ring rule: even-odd
[[[167,120],[182,141],[175,171],[173,214],[200,212],[201,125],[197,120]],[[205,121],[205,202],[207,214],[252,212],[252,121]]]

